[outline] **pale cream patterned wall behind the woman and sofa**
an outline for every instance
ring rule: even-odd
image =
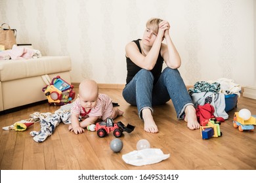
[[[125,44],[146,20],[171,24],[187,85],[232,78],[256,84],[255,0],[0,0],[0,24],[45,56],[70,56],[72,82],[125,84]],[[256,44],[255,44],[256,45]]]

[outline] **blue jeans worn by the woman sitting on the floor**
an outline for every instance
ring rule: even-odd
[[[183,119],[184,109],[187,105],[193,105],[193,102],[178,69],[166,67],[158,82],[155,85],[153,82],[152,73],[141,69],[123,89],[123,98],[127,103],[137,106],[140,119],[144,108],[150,108],[153,113],[153,105],[162,105],[171,99],[177,118]]]

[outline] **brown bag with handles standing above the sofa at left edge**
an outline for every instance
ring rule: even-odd
[[[3,23],[0,27],[0,45],[5,46],[5,50],[11,50],[13,44],[16,44],[16,29],[11,29],[8,25],[7,28],[3,28],[3,25],[8,25]]]

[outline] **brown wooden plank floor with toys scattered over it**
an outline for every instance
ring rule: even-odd
[[[35,142],[30,131],[39,131],[40,124],[34,124],[26,131],[0,130],[0,169],[1,170],[202,170],[202,169],[256,169],[256,132],[240,132],[232,125],[234,112],[248,108],[256,114],[256,100],[240,97],[238,107],[228,112],[230,118],[221,124],[222,137],[203,140],[200,130],[190,130],[186,122],[177,120],[175,109],[169,101],[166,105],[154,108],[154,119],[160,130],[151,134],[143,130],[143,122],[137,116],[137,108],[128,105],[119,89],[100,89],[119,103],[125,113],[115,121],[135,125],[132,133],[123,133],[123,149],[112,152],[110,141],[115,139],[110,133],[100,138],[96,132],[85,131],[75,135],[68,131],[67,124],[56,127],[53,135],[44,142]],[[29,118],[33,112],[54,112],[58,106],[48,103],[28,107],[18,112],[0,116],[0,127],[14,124]],[[123,154],[136,150],[137,141],[147,139],[152,148],[160,148],[168,159],[160,163],[144,166],[133,166],[125,163]]]

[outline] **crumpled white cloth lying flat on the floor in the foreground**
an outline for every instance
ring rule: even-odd
[[[142,166],[158,163],[169,158],[169,156],[170,154],[163,154],[159,148],[146,148],[123,154],[122,158],[127,164]]]

